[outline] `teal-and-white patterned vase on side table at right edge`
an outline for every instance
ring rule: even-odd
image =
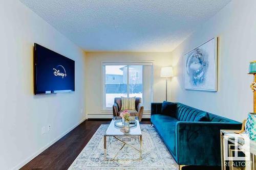
[[[256,140],[256,113],[249,113],[246,126],[245,133],[249,136],[251,140]]]

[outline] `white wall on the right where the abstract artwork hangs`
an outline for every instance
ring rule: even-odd
[[[242,122],[252,112],[249,62],[255,60],[256,1],[233,0],[172,52],[172,100]],[[218,91],[184,90],[183,55],[219,37]]]

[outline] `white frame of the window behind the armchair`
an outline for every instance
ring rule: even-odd
[[[101,99],[102,99],[102,103],[101,103],[101,107],[102,107],[102,111],[110,111],[112,110],[112,107],[106,107],[106,89],[105,89],[105,67],[103,68],[103,66],[106,65],[127,65],[127,70],[129,70],[129,66],[131,65],[150,65],[152,66],[152,70],[151,70],[151,102],[153,101],[153,82],[154,82],[154,74],[153,74],[153,70],[154,70],[154,64],[153,61],[145,61],[145,62],[101,62]],[[129,84],[129,71],[127,71],[127,84]],[[143,90],[143,88],[142,88]],[[130,93],[130,89],[129,86],[127,85],[127,96]],[[143,98],[143,96],[142,96]],[[143,99],[142,99],[143,101]],[[150,111],[150,110],[145,110],[145,111]]]

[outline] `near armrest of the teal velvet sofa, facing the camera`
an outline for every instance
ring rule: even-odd
[[[177,122],[176,154],[179,164],[221,165],[220,130],[241,129],[240,123]]]

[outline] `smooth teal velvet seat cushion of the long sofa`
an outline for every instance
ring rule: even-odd
[[[151,122],[154,124],[156,130],[167,148],[172,152],[173,155],[176,155],[175,150],[175,127],[178,120],[171,116],[154,114],[151,116]]]

